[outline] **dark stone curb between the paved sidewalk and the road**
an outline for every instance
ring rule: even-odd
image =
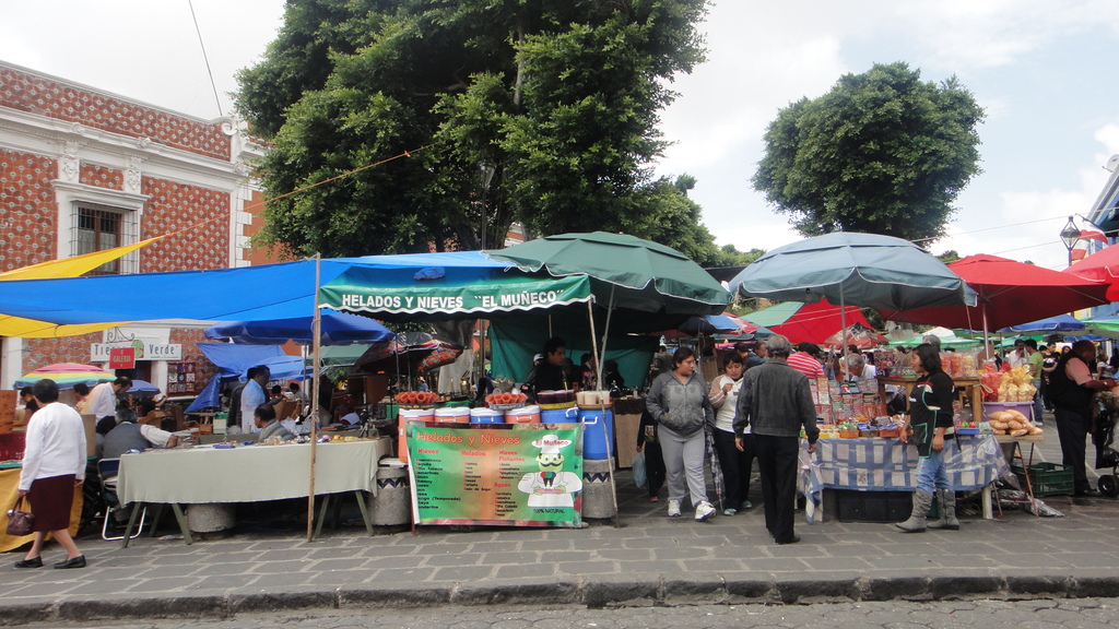
[[[414,584],[333,591],[273,593],[228,592],[181,597],[128,595],[73,598],[0,604],[0,626],[35,622],[228,619],[236,614],[309,609],[405,609],[431,605],[583,604],[587,608],[685,604],[810,604],[840,601],[932,601],[977,598],[1005,600],[1113,597],[1119,575],[989,574],[946,576],[850,578],[727,581],[721,575],[697,580],[583,576],[539,579],[496,585],[458,583],[417,588]]]

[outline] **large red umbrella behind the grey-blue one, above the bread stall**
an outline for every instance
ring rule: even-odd
[[[990,331],[1109,302],[1104,282],[996,255],[969,255],[948,267],[979,293],[977,306],[880,310],[882,316],[893,321]]]

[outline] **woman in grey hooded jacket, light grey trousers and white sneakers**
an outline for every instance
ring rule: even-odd
[[[714,425],[715,412],[707,384],[695,373],[695,354],[681,347],[673,354],[673,370],[660,374],[645,397],[646,407],[659,425],[658,436],[668,477],[668,516],[679,517],[680,500],[692,496],[696,519],[715,515],[707,500],[704,478],[704,426]]]

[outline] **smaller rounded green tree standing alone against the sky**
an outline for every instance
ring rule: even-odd
[[[753,184],[805,235],[937,238],[980,172],[982,120],[955,76],[938,85],[904,63],[876,64],[781,110]]]

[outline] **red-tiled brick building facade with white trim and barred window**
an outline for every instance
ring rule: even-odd
[[[248,163],[261,150],[233,119],[200,120],[0,62],[0,272],[164,234],[172,235],[96,272],[260,263],[246,243],[261,198]],[[121,295],[173,298],[175,287]],[[95,362],[94,345],[131,339],[181,345],[179,360],[140,362],[137,377],[172,395],[208,381],[200,327],[149,321],[81,337],[2,338],[0,386],[44,365]],[[196,375],[187,382],[182,372]]]

